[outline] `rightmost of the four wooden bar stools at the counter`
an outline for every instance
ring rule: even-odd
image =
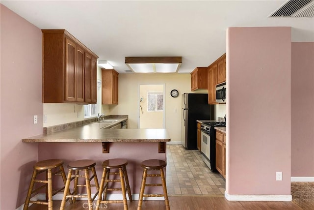
[[[142,162],[142,167],[144,168],[144,171],[143,171],[141,189],[139,192],[137,210],[142,209],[143,197],[164,197],[166,210],[170,210],[167,187],[166,187],[166,180],[163,173],[163,168],[166,167],[166,165],[167,163],[165,161],[156,160],[156,159],[144,160]],[[159,171],[160,174],[147,174],[147,171]],[[147,177],[161,177],[161,184],[159,183],[158,184],[146,184]],[[162,186],[163,194],[144,194],[145,186]]]

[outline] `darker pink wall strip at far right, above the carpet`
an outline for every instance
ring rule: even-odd
[[[291,50],[291,177],[314,177],[314,43]]]

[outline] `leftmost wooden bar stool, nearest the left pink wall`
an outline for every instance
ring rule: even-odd
[[[48,205],[48,210],[52,210],[52,196],[64,190],[64,186],[60,189],[52,189],[52,175],[61,176],[63,183],[65,185],[66,177],[65,177],[64,168],[63,168],[63,161],[60,159],[42,160],[35,163],[33,168],[34,168],[34,171],[33,171],[33,175],[29,184],[28,193],[26,196],[25,204],[24,204],[24,210],[28,209],[29,203]],[[36,180],[36,176],[43,172],[46,172],[46,180]],[[44,183],[44,184],[37,187],[36,189],[33,189],[35,182]],[[38,190],[45,187],[46,187],[46,202],[30,200],[31,195],[34,192],[37,192]],[[70,203],[72,203],[72,199],[70,200]]]

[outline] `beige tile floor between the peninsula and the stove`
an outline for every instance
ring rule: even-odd
[[[205,165],[199,150],[167,145],[167,191],[169,196],[224,196],[225,180]]]

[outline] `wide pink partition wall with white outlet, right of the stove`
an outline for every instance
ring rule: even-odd
[[[291,29],[229,28],[227,42],[226,192],[290,195]]]

